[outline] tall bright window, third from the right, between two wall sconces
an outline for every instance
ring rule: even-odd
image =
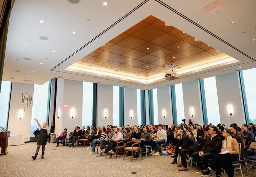
[[[175,85],[175,96],[176,96],[177,124],[180,124],[182,123],[182,119],[184,119],[182,84]]]

